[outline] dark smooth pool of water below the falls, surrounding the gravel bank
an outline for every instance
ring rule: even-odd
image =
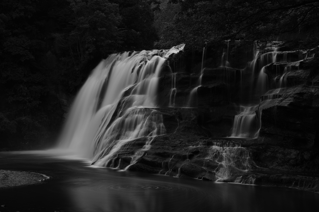
[[[316,211],[319,201],[319,194],[295,189],[89,168],[44,152],[1,153],[0,166],[53,178],[0,190],[8,211]]]

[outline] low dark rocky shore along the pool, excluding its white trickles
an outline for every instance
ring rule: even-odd
[[[141,148],[144,145],[144,140],[145,138],[140,138],[130,143],[126,147],[126,151],[119,154],[112,163],[120,169],[129,166],[131,157],[128,155],[133,155],[137,148]],[[288,160],[289,158],[285,156],[258,159],[258,154],[260,153],[254,149],[254,146],[250,146],[253,142],[251,140],[203,139],[200,136],[189,137],[176,133],[166,134],[156,137],[152,141],[152,148],[145,152],[128,170],[208,181],[279,186],[319,192],[318,174],[309,173],[306,168],[303,169],[304,172],[301,172],[301,167],[298,166],[289,166],[287,164],[286,168],[283,168],[273,165],[275,161]],[[218,153],[215,153],[215,156],[212,157],[211,149],[222,148],[223,146],[230,149],[234,147],[234,151],[239,150],[241,153],[246,151],[248,153],[253,152],[253,154],[250,154],[251,158],[247,159],[250,160],[251,167],[248,167],[247,170],[241,170],[236,168],[236,166],[229,165],[231,169],[231,173],[228,175],[229,178],[217,180],[218,177],[216,175],[218,175],[218,172],[216,170],[219,170],[220,166],[224,166],[224,164],[211,159],[213,157],[221,157]],[[258,145],[258,147],[260,146]],[[275,148],[269,144],[264,144],[264,147],[266,149]],[[294,156],[298,158],[298,154]],[[237,159],[238,161],[234,161],[235,163],[241,162],[243,159],[246,160],[245,158]],[[296,158],[290,158],[290,160],[296,160]],[[268,164],[266,164],[267,162]],[[267,168],[262,168],[262,165]]]

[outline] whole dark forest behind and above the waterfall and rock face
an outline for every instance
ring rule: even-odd
[[[63,106],[109,54],[184,43],[220,55],[225,40],[315,48],[319,0],[2,0],[0,147],[52,145]]]

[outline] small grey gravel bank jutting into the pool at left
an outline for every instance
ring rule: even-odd
[[[39,184],[49,178],[34,172],[0,170],[0,188]]]

